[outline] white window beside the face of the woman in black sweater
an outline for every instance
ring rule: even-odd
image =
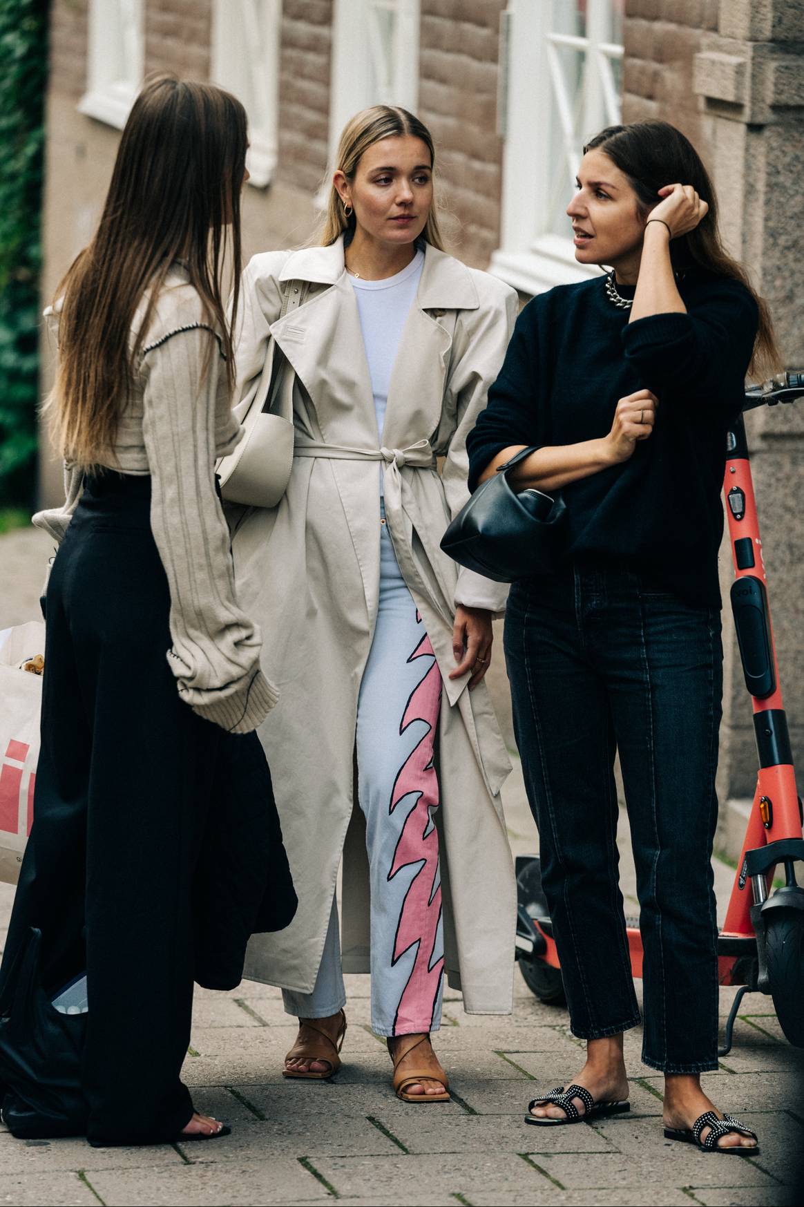
[[[584,141],[621,119],[625,0],[509,0],[502,14],[502,246],[491,272],[525,293],[594,275],[566,209]]]

